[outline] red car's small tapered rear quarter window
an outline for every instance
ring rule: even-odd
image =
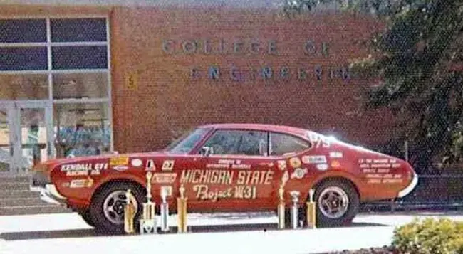
[[[270,133],[270,155],[285,155],[290,153],[302,152],[311,147],[309,142],[282,133]]]

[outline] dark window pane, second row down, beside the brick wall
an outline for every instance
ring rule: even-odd
[[[108,52],[106,46],[53,47],[53,69],[106,69]]]

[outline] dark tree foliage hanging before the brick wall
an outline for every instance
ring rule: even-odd
[[[293,6],[314,9],[326,1],[296,3]],[[410,140],[411,163],[418,170],[427,168],[433,158],[447,165],[461,162],[463,1],[349,0],[341,4],[344,9],[376,14],[386,24],[385,31],[369,43],[372,55],[351,63],[356,75],[380,80],[368,91],[366,108],[387,107],[397,116],[400,135],[395,140]]]

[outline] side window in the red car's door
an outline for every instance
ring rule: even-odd
[[[266,155],[267,134],[254,130],[218,130],[204,144],[214,154]]]

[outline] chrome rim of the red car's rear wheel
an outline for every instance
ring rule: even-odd
[[[339,187],[324,189],[318,198],[318,208],[328,218],[340,218],[349,207],[348,194]]]

